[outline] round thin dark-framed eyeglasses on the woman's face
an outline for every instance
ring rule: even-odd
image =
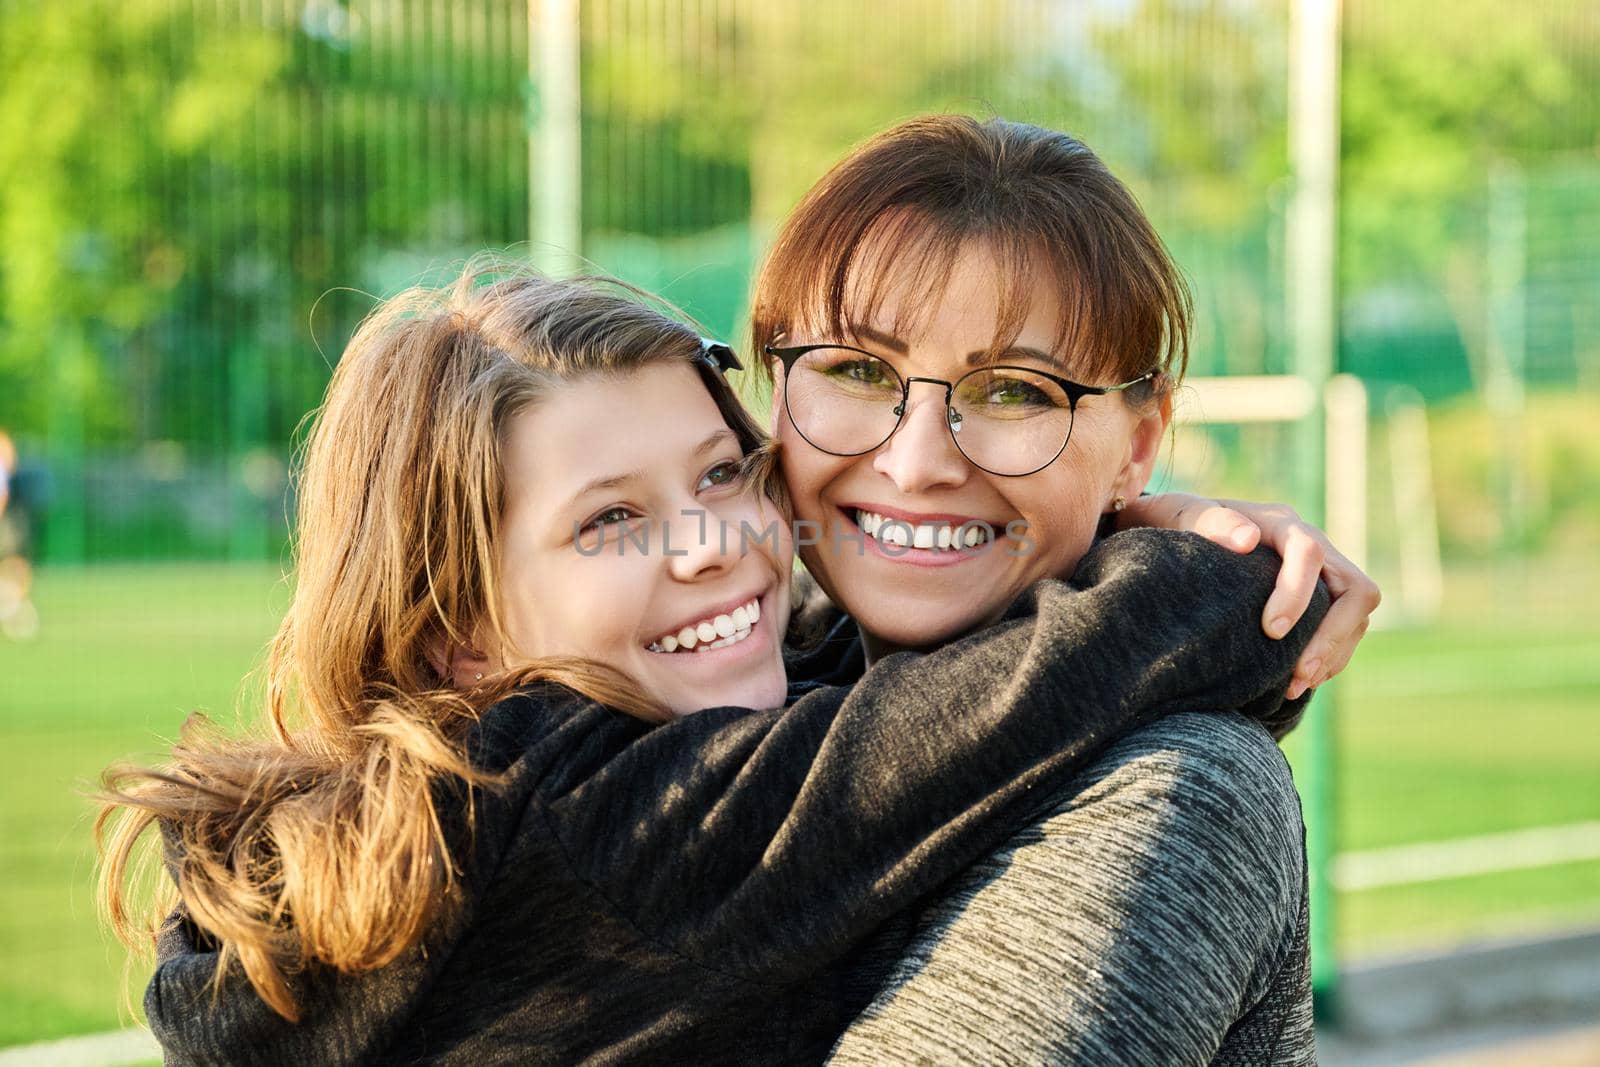
[[[984,365],[954,382],[901,378],[886,360],[840,344],[765,346],[784,365],[784,410],[811,446],[830,456],[862,456],[906,419],[914,382],[944,389],[946,426],[971,464],[1005,478],[1037,474],[1066,451],[1078,400],[1155,379],[1150,371],[1120,386],[1080,386],[1027,366]]]

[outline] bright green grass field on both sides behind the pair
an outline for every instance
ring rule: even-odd
[[[1341,848],[1600,819],[1600,569],[1546,569],[1453,573],[1450,624],[1366,640],[1338,686]],[[35,593],[40,637],[0,640],[0,1046],[130,1022],[125,955],[94,915],[85,795],[189,710],[232,721],[286,601],[266,566],[45,571]],[[1600,918],[1600,862],[1339,904],[1346,955],[1554,928]]]

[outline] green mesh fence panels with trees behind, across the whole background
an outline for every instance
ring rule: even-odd
[[[1584,5],[1523,6],[1517,32],[1419,51],[1429,5],[1346,5],[1341,366],[1429,402],[1485,395],[1502,352],[1523,389],[1600,376],[1600,30]],[[1194,282],[1194,373],[1291,370],[1283,3],[579,19],[578,251],[714,333],[738,339],[765,238],[829,163],[954,109],[1070,130],[1128,179]],[[5,27],[0,422],[40,550],[275,555],[293,429],[365,310],[341,286],[530,237],[528,8],[86,2]],[[1454,88],[1453,61],[1482,85]],[[1238,440],[1176,475],[1293,491],[1293,458]]]

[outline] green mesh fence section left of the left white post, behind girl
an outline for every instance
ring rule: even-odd
[[[275,557],[291,435],[366,307],[336,286],[526,238],[525,5],[3,19],[0,426],[45,557]]]

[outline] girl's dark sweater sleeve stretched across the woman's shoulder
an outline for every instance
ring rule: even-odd
[[[1280,715],[1326,593],[1272,641],[1275,573],[1267,552],[1118,534],[995,627],[890,656],[851,689],[570,739],[536,805],[573,873],[642,934],[787,982],[994,848],[1128,729]]]

